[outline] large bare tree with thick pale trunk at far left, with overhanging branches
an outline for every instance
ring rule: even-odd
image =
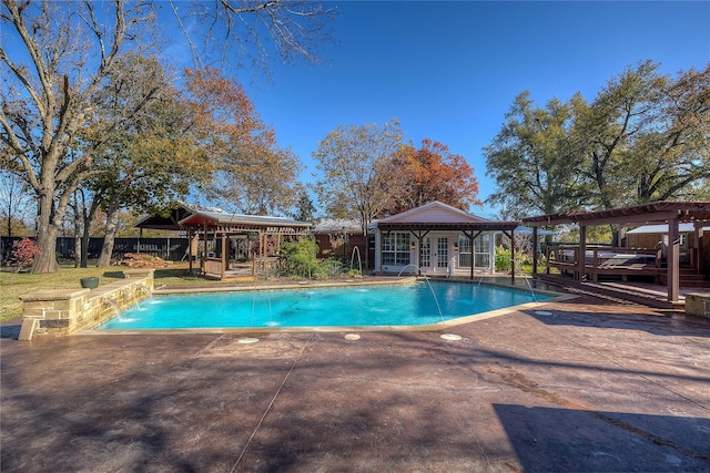
[[[150,1],[126,4],[122,0],[2,0],[0,138],[8,150],[2,160],[4,168],[21,173],[37,198],[38,246],[42,254],[34,260],[34,273],[58,269],[53,248],[69,200],[78,186],[97,173],[92,163],[100,143],[93,148],[82,147],[80,154],[70,153],[80,132],[100,126],[97,134],[109,140],[124,132],[134,115],[155,100],[155,91],[145,90],[112,120],[97,116],[93,102],[97,92],[120,71],[124,54],[150,55],[155,44],[151,41],[156,24],[153,6]],[[171,6],[178,12],[174,3]],[[268,35],[282,56],[312,60],[318,40],[327,38],[327,23],[322,20],[333,17],[317,3],[284,1],[242,8],[223,0],[201,13],[213,20],[202,23],[205,39],[222,32],[224,52],[235,44],[243,47],[239,58],[255,43],[252,58],[257,60],[270,56],[266,42],[262,42]],[[175,18],[184,24],[181,17]]]

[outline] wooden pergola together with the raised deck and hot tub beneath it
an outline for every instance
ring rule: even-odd
[[[537,245],[539,227],[556,225],[579,226],[579,245],[569,245],[548,251],[548,269],[545,275],[538,274],[538,256],[532,260],[535,277],[548,278],[549,268],[569,271],[578,282],[597,280],[599,275],[619,275],[626,280],[628,276],[651,276],[656,282],[667,286],[667,301],[678,302],[680,298],[680,238],[679,225],[689,223],[694,228],[697,248],[692,248],[689,260],[691,270],[707,274],[710,270],[708,261],[708,237],[703,238],[702,228],[710,222],[710,202],[655,202],[623,208],[606,210],[571,210],[556,214],[527,217],[525,225],[532,227],[534,245]],[[655,248],[591,248],[587,245],[587,228],[598,225],[613,225],[618,228],[619,240],[625,237],[627,227],[649,224],[668,226],[668,244],[659,244]],[[703,243],[704,240],[704,243]],[[618,254],[623,253],[622,257]],[[633,255],[629,255],[633,253]]]

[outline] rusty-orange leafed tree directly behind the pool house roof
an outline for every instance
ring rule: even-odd
[[[396,155],[396,165],[404,175],[405,187],[396,196],[394,206],[385,209],[387,215],[409,210],[433,200],[463,210],[481,204],[474,168],[463,156],[452,154],[448,146],[439,142],[425,138],[419,150],[415,150],[412,144],[404,146]]]

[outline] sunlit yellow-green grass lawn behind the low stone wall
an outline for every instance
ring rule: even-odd
[[[178,263],[169,268],[155,270],[155,286],[204,286],[223,285],[225,282],[203,279],[196,276],[181,275],[180,269],[187,268],[187,263]],[[98,276],[100,285],[114,279],[123,279],[125,266],[110,268],[74,268],[73,265],[62,266],[58,273],[50,275],[32,275],[30,273],[12,273],[16,268],[0,268],[0,322],[22,317],[22,301],[20,296],[40,289],[80,289],[79,279]],[[232,282],[233,284],[233,282]]]

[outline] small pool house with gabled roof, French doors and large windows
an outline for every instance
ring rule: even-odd
[[[514,240],[518,225],[430,202],[371,224],[375,234],[375,273],[471,279],[475,275],[490,275],[495,273],[496,235]]]

